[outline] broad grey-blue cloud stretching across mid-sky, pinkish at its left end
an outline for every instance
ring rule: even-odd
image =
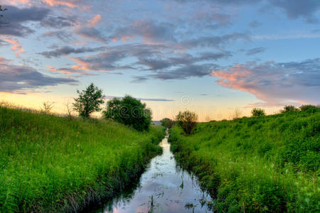
[[[95,55],[87,55],[86,57],[69,58],[76,62],[76,65],[72,65],[68,69],[68,72],[72,72],[72,70],[74,70],[74,72],[141,70],[149,71],[151,73],[146,74],[143,77],[135,76],[134,82],[142,82],[150,78],[161,80],[186,79],[188,77],[203,77],[210,75],[210,71],[213,68],[218,67],[218,65],[212,64],[212,61],[228,58],[232,55],[228,51],[203,52],[198,53],[198,55],[171,53],[171,48],[166,45],[148,44],[126,44],[98,49],[105,49],[105,51]],[[97,50],[97,48],[74,49],[68,47],[41,54],[46,55],[46,57],[52,57],[91,50],[94,51]],[[134,59],[137,61],[132,62]],[[203,62],[207,63],[203,64]],[[63,68],[64,72],[65,70],[67,69]]]

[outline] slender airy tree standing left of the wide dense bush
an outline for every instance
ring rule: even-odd
[[[77,93],[79,97],[75,98],[73,109],[78,111],[82,118],[87,119],[92,112],[101,111],[100,105],[104,103],[102,89],[95,87],[95,85],[91,83],[87,89],[82,90],[82,92],[77,90]]]

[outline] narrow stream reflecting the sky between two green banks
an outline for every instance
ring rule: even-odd
[[[95,212],[212,212],[210,195],[176,165],[168,134],[160,146],[163,154],[151,160],[139,182]]]

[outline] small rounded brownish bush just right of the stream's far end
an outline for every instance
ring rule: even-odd
[[[184,133],[189,135],[191,131],[196,127],[196,121],[198,120],[198,115],[193,111],[179,111],[176,116],[176,122],[178,126],[181,126]]]

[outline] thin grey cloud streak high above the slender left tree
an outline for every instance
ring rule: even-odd
[[[71,53],[92,53],[92,52],[98,52],[105,50],[105,47],[100,47],[100,48],[71,48],[69,46],[64,46],[62,48],[58,48],[55,50],[50,50],[50,51],[44,51],[42,53],[38,53],[40,55],[43,55],[46,58],[58,58],[62,55],[70,55]]]

